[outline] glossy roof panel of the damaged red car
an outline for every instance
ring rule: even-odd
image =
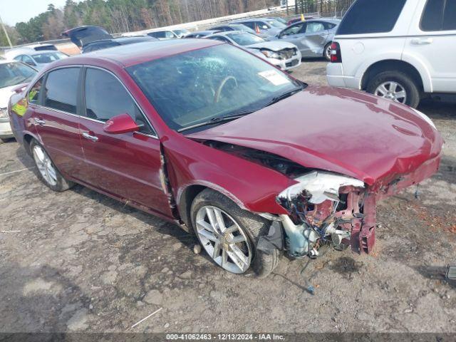
[[[122,66],[134,66],[136,64],[153,61],[158,58],[185,53],[188,51],[198,50],[200,48],[208,48],[216,46],[221,42],[211,41],[208,39],[170,39],[167,41],[153,41],[136,43],[131,45],[115,46],[103,50],[83,53],[71,58],[65,58],[53,63],[54,66],[71,66],[75,64],[103,63],[110,61]]]

